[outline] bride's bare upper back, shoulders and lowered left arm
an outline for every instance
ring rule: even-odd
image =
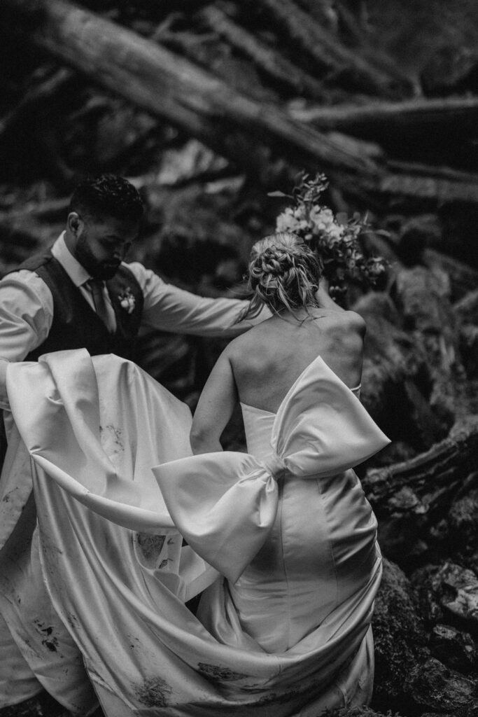
[[[276,413],[292,384],[317,356],[349,388],[360,383],[365,322],[352,311],[313,310],[299,322],[274,316],[235,338],[221,353],[193,418],[194,453],[222,450],[221,433],[239,400]]]

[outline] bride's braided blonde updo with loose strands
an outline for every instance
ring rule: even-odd
[[[273,313],[318,307],[315,293],[322,264],[295,234],[279,232],[254,244],[249,262],[248,288],[252,299],[239,320],[257,316],[266,304]]]

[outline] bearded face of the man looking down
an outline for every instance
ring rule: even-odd
[[[73,254],[95,279],[111,279],[138,236],[139,224],[115,217],[77,217],[69,221]]]

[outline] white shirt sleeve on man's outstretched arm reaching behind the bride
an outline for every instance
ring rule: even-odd
[[[247,301],[204,298],[166,283],[136,262],[128,267],[143,290],[143,326],[173,333],[231,337],[244,333],[258,320],[270,316],[265,310],[260,318],[235,323],[239,313],[248,305]]]

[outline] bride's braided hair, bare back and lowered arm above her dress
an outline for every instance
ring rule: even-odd
[[[294,234],[274,234],[254,245],[249,310],[254,315],[254,306],[265,304],[272,317],[221,353],[194,414],[194,453],[221,450],[221,433],[238,400],[276,413],[317,356],[349,388],[360,383],[365,322],[335,305],[319,280],[317,257]]]

